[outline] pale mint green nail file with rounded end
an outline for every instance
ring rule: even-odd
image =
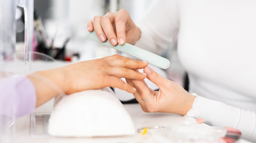
[[[91,38],[92,40],[95,40],[103,45],[114,48],[120,52],[137,57],[141,60],[148,61],[148,63],[155,65],[159,68],[167,69],[170,66],[170,61],[168,59],[158,56],[156,54],[153,54],[151,52],[148,52],[146,50],[143,50],[141,48],[138,48],[134,45],[125,43],[123,45],[117,44],[116,46],[113,46],[110,44],[109,40],[107,40],[106,42],[101,42],[99,40],[98,36],[96,35],[95,31],[89,33],[89,38]]]

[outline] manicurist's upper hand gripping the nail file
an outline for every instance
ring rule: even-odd
[[[140,30],[132,21],[130,14],[121,9],[115,13],[109,12],[103,17],[95,16],[87,24],[89,32],[95,30],[100,41],[107,39],[115,46],[125,42],[135,44],[140,38]]]

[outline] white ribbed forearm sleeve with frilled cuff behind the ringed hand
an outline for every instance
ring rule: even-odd
[[[242,138],[256,140],[255,112],[198,96],[186,116],[203,118],[211,126],[237,128],[242,132]]]

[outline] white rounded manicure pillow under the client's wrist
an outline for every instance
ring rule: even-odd
[[[54,100],[48,132],[53,136],[118,136],[135,134],[133,121],[109,88],[85,90]]]

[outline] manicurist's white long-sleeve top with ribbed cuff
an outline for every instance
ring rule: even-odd
[[[255,0],[158,0],[138,26],[136,46],[153,53],[177,41],[189,92],[199,95],[187,116],[256,142]]]

